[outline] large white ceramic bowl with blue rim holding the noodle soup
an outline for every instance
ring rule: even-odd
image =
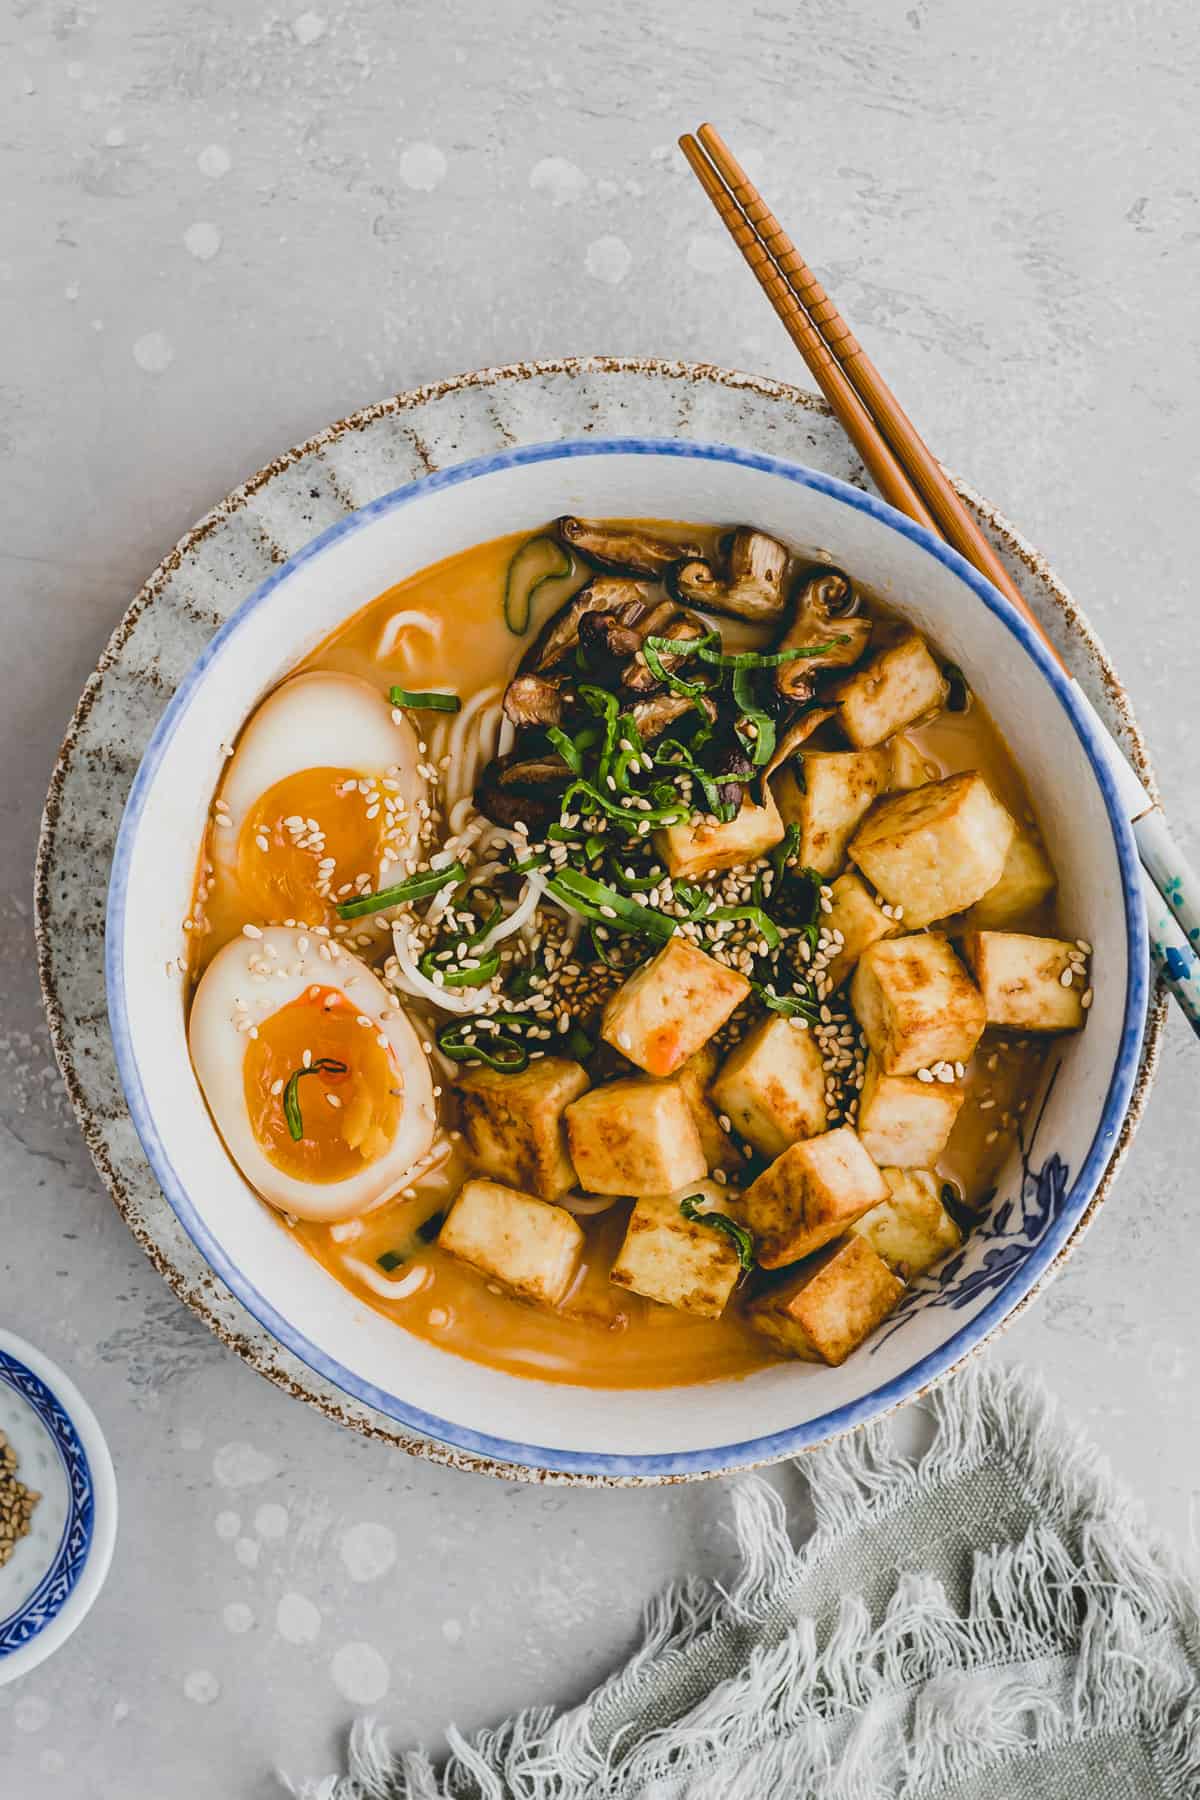
[[[417,569],[560,513],[752,520],[837,560],[957,661],[1009,738],[1072,929],[1096,949],[1088,1028],[1051,1057],[1036,1130],[990,1217],[842,1368],[781,1364],[694,1388],[604,1391],[466,1363],[354,1300],[255,1201],[193,1078],[182,918],[221,742],[342,619]],[[698,1476],[792,1454],[945,1373],[1043,1278],[1114,1152],[1148,974],[1137,853],[1092,716],[1011,605],[961,556],[829,475],[721,445],[585,439],[507,450],[401,488],[293,556],[178,688],[121,826],[106,979],[121,1078],[167,1201],[210,1267],[297,1357],[410,1429],[484,1458],[601,1476]],[[1033,1114],[1031,1114],[1033,1116]]]

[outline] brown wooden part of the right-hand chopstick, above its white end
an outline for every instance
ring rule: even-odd
[[[925,517],[921,513],[912,513],[903,500],[892,500],[892,506],[907,511],[912,518],[918,518],[919,524],[927,524],[928,515],[932,513],[934,529],[939,531],[948,544],[954,544],[959,554],[966,556],[966,560],[973,563],[973,567],[979,569],[979,572],[984,574],[993,587],[999,587],[1000,592],[1013,601],[1061,666],[1061,655],[1058,653],[1054,643],[1047,637],[1043,626],[1029,610],[1027,601],[997,556],[995,549],[950,486],[941,463],[932,454],[916,425],[847,326],[846,319],[842,319],[842,313],[820,286],[811,268],[759,194],[747,171],[729,149],[720,131],[716,131],[711,124],[702,124],[696,137],[711,158],[711,166],[705,164],[703,175],[687,149],[689,142],[694,144],[694,139],[680,139],[680,148],[691,167],[703,182],[705,193],[709,193],[709,198],[721,214],[721,220],[750,263],[750,268],[754,268],[756,275],[759,275],[759,283],[763,283],[763,275],[759,274],[754,256],[738,238],[730,218],[725,214],[712,193],[712,187],[709,185],[712,171],[720,176],[720,191],[727,196],[727,200],[732,200],[732,216],[741,223],[748,241],[756,247],[757,257],[761,263],[774,268],[775,279],[783,281],[793,302],[799,304],[810,331],[817,337],[824,353],[833,356],[837,362],[860,407],[865,409],[874,430],[887,445],[892,461],[900,466],[905,481],[909,481],[909,484],[921,495],[925,502]],[[817,374],[801,337],[793,335],[792,340],[813,374]],[[824,387],[822,392],[826,392]],[[842,418],[837,400],[833,400],[828,392],[826,398],[838,418]],[[855,448],[858,448],[858,454],[862,455],[858,439],[855,439]],[[864,455],[864,463],[865,461],[867,459]],[[871,468],[869,463],[867,468]],[[874,473],[874,470],[871,470],[871,473]],[[891,499],[891,495],[885,495],[885,499]]]

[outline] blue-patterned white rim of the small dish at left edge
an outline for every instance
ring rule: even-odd
[[[50,1564],[36,1589],[0,1620],[13,1629],[40,1613],[40,1624],[22,1643],[0,1649],[4,1687],[52,1656],[92,1611],[117,1543],[117,1476],[99,1420],[74,1381],[16,1332],[0,1328],[0,1355],[5,1364],[0,1381],[34,1408],[72,1489],[72,1507]],[[13,1368],[25,1375],[20,1386]]]

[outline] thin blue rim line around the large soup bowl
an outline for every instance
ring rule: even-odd
[[[435,1413],[426,1413],[425,1409],[412,1406],[399,1395],[389,1393],[378,1388],[374,1382],[363,1381],[353,1370],[345,1368],[335,1357],[322,1352],[313,1345],[295,1325],[291,1325],[255,1287],[254,1283],[232,1264],[225,1255],[214,1235],[210,1233],[205,1220],[200,1217],[196,1206],[193,1204],[185,1183],[178,1175],[167,1148],[158,1134],[157,1123],[151,1116],[149,1105],[146,1102],[146,1091],[140,1078],[140,1069],[137,1062],[137,1053],[133,1049],[130,1017],[126,1008],[126,981],[124,981],[124,914],[128,900],[128,880],[130,880],[130,862],[133,855],[133,844],[137,839],[137,830],[146,806],[146,799],[155,779],[158,763],[175,736],[180,718],[194,702],[198,689],[203,684],[209,666],[225,652],[225,646],[232,637],[243,628],[245,621],[252,612],[270,598],[270,594],[286,581],[300,565],[322,556],[342,538],[351,536],[365,529],[376,518],[398,511],[399,508],[410,506],[421,500],[428,493],[435,493],[443,488],[457,488],[464,482],[477,481],[480,477],[497,473],[500,470],[520,468],[534,463],[551,463],[570,457],[583,455],[669,455],[685,457],[696,461],[711,463],[732,463],[741,468],[750,468],[759,473],[774,475],[783,481],[790,481],[797,486],[811,488],[833,500],[840,500],[856,511],[865,513],[878,524],[909,538],[936,562],[943,563],[952,574],[959,576],[972,589],[973,596],[982,601],[984,607],[1006,626],[1009,635],[1025,652],[1029,661],[1040,671],[1060,706],[1067,713],[1070,725],[1079,738],[1083,751],[1092,765],[1092,774],[1101,790],[1105,801],[1105,810],[1108,815],[1108,824],[1114,835],[1117,862],[1121,869],[1121,887],[1124,902],[1124,929],[1126,929],[1126,992],[1123,1008],[1123,1024],[1117,1053],[1114,1058],[1114,1067],[1108,1082],[1108,1091],[1105,1094],[1105,1103],[1101,1109],[1101,1118],[1088,1147],[1088,1152],[1079,1165],[1079,1174],[1070,1184],[1067,1199],[1063,1201],[1061,1211],[1058,1213],[1052,1228],[1038,1242],[1036,1249],[1024,1260],[1020,1269],[1009,1278],[1009,1282],[997,1292],[997,1296],[972,1316],[957,1332],[945,1339],[936,1350],[930,1350],[918,1363],[912,1363],[901,1373],[894,1375],[891,1381],[882,1382],[869,1393],[860,1395],[856,1400],[849,1400],[833,1411],[820,1413],[815,1418],[804,1420],[802,1424],[792,1426],[784,1431],[768,1433],[756,1438],[745,1438],[734,1444],[711,1445],[694,1451],[673,1451],[664,1454],[619,1454],[619,1453],[599,1453],[599,1451],[565,1451],[538,1444],[525,1444],[513,1438],[498,1438],[489,1433],[473,1431],[453,1420],[443,1418]],[[257,1323],[268,1330],[286,1350],[290,1350],[300,1363],[315,1370],[326,1381],[331,1381],[344,1393],[360,1400],[365,1406],[374,1408],[385,1417],[396,1420],[410,1431],[416,1431],[426,1438],[434,1438],[452,1449],[462,1451],[470,1456],[486,1458],[493,1462],[507,1462],[524,1469],[549,1472],[549,1474],[585,1474],[601,1476],[608,1480],[630,1480],[630,1478],[696,1478],[702,1474],[723,1474],[732,1469],[748,1467],[763,1462],[775,1462],[784,1456],[792,1456],[811,1449],[815,1444],[824,1442],[842,1431],[853,1429],[864,1424],[867,1418],[874,1418],[880,1413],[889,1411],[894,1406],[921,1393],[930,1382],[945,1375],[955,1363],[959,1363],[966,1354],[975,1350],[984,1337],[988,1337],[995,1327],[999,1327],[1043,1280],[1049,1267],[1054,1264],[1058,1255],[1067,1246],[1074,1229],[1085,1217],[1088,1202],[1099,1184],[1103,1172],[1108,1165],[1112,1150],[1117,1143],[1121,1123],[1124,1120],[1133,1084],[1137,1078],[1137,1060],[1142,1042],[1142,1031],[1146,1022],[1146,1010],[1150,999],[1150,970],[1146,954],[1146,918],[1141,895],[1141,864],[1137,857],[1137,848],[1133,841],[1133,832],[1130,821],[1121,806],[1121,797],[1117,785],[1108,763],[1108,751],[1105,751],[1101,733],[1092,720],[1088,709],[1079,702],[1074,691],[1074,682],[1063,673],[1060,664],[1049,653],[1038,634],[1029,626],[1029,623],[1016,612],[1006,596],[1002,596],[984,576],[979,574],[955,549],[946,542],[934,536],[923,526],[898,513],[887,502],[865,493],[860,488],[840,481],[835,475],[826,475],[820,470],[808,468],[788,457],[768,455],[765,452],[745,450],[732,445],[698,441],[698,439],[676,439],[676,437],[583,437],[583,439],[554,439],[536,445],[516,445],[506,450],[489,452],[486,455],[471,457],[464,463],[457,463],[452,468],[434,470],[417,481],[407,482],[390,493],[380,495],[376,500],[367,502],[345,518],[338,518],[318,536],[311,538],[302,549],[281,563],[264,581],[261,581],[252,594],[230,614],[230,617],[221,625],[216,635],[201,650],[200,657],[187,670],[180,680],[175,695],[171,697],[162,718],[158,720],[142,761],[139,765],[137,776],[130,788],[130,797],[121,819],[121,828],[117,833],[117,846],[113,851],[110,889],[108,889],[108,907],[106,907],[106,927],[104,927],[104,985],[108,995],[108,1015],[113,1035],[113,1049],[117,1058],[117,1071],[121,1076],[121,1085],[130,1105],[130,1116],[133,1129],[146,1150],[149,1165],[162,1184],[162,1192],[173,1208],[176,1219],[180,1220],[184,1231],[189,1235],[200,1255],[205,1258],[209,1267],[225,1282],[225,1285],[236,1294],[241,1305],[257,1319]]]

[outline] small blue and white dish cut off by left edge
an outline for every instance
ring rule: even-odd
[[[104,1586],[117,1481],[92,1408],[49,1357],[0,1330],[0,1431],[41,1498],[0,1568],[0,1685],[45,1661]]]

